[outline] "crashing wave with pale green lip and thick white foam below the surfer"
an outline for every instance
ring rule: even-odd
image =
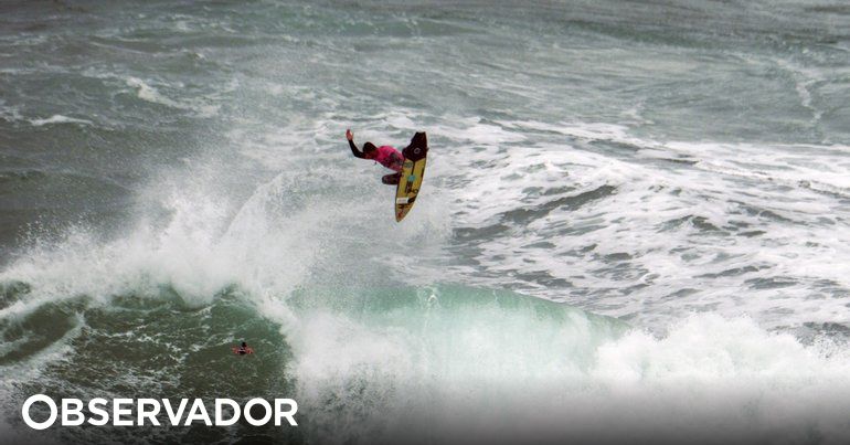
[[[322,441],[850,434],[847,349],[804,347],[748,318],[694,315],[663,338],[601,340],[582,317],[495,307],[374,318],[317,309],[285,330],[299,406]]]

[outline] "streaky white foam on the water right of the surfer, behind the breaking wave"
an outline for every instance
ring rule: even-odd
[[[843,146],[665,142],[619,125],[501,124],[525,139],[474,149],[465,130],[442,128],[449,139],[440,156],[453,166],[444,183],[451,183],[446,200],[454,225],[507,224],[471,243],[480,251],[477,267],[444,268],[455,279],[525,289],[660,329],[689,310],[750,314],[765,326],[850,318],[840,290],[832,296],[827,284],[850,287],[847,262],[835,261],[850,258],[843,235],[850,222],[840,216],[850,195]],[[576,139],[557,141],[557,135]],[[636,153],[584,147],[599,141]],[[551,208],[527,226],[503,220],[603,186],[615,193],[580,208]],[[704,233],[703,223],[726,234]]]

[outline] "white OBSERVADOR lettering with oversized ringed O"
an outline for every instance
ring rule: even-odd
[[[46,405],[50,414],[45,421],[36,422],[30,415],[30,410],[36,403]],[[280,426],[284,420],[289,423],[289,426],[298,426],[295,421],[298,403],[291,399],[275,399],[274,403],[269,403],[265,399],[251,399],[244,406],[240,406],[237,402],[231,399],[215,399],[212,418],[206,412],[206,405],[202,399],[194,399],[187,411],[189,405],[189,399],[180,399],[180,402],[174,405],[169,399],[113,399],[108,401],[96,398],[88,401],[87,406],[91,416],[86,417],[83,412],[84,403],[79,399],[62,399],[57,405],[53,399],[44,394],[35,394],[23,402],[21,415],[26,425],[33,430],[49,428],[56,423],[56,418],[60,416],[62,417],[62,426],[79,426],[84,423],[95,426],[104,426],[109,423],[113,426],[163,426],[157,418],[157,415],[163,410],[171,426],[189,426],[201,422],[208,426],[230,426],[238,422],[241,416],[244,416],[245,421],[254,426],[266,425],[273,418],[275,426]],[[252,415],[251,411],[254,406],[264,409],[261,418],[255,418]],[[184,413],[185,417],[183,417]]]

